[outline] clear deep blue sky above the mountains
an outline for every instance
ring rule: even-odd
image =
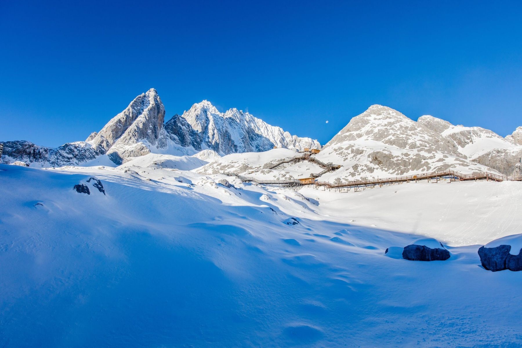
[[[505,136],[521,4],[1,0],[0,140],[84,140],[151,87],[167,119],[208,99],[322,143],[371,104]]]

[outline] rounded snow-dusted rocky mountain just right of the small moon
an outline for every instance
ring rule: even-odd
[[[326,143],[317,159],[342,165],[322,177],[328,181],[448,169],[491,171],[467,160],[453,140],[382,105],[372,105],[353,117]]]

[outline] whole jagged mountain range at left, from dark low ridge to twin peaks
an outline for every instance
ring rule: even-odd
[[[194,104],[182,116],[174,115],[167,124],[164,118],[165,107],[151,88],[86,141],[66,143],[56,149],[29,141],[7,141],[2,163],[23,161],[38,167],[109,162],[120,165],[126,159],[151,152],[183,156],[201,150],[224,155],[266,151],[274,146],[294,150],[321,148],[316,140],[292,136],[249,113],[237,109],[219,113],[208,101]]]

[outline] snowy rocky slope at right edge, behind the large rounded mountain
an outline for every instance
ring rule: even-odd
[[[420,124],[455,141],[458,150],[470,160],[486,165],[504,175],[521,175],[520,157],[522,145],[517,145],[519,134],[502,138],[482,127],[454,126],[447,121],[430,115],[421,116]],[[522,128],[521,128],[522,129]]]

